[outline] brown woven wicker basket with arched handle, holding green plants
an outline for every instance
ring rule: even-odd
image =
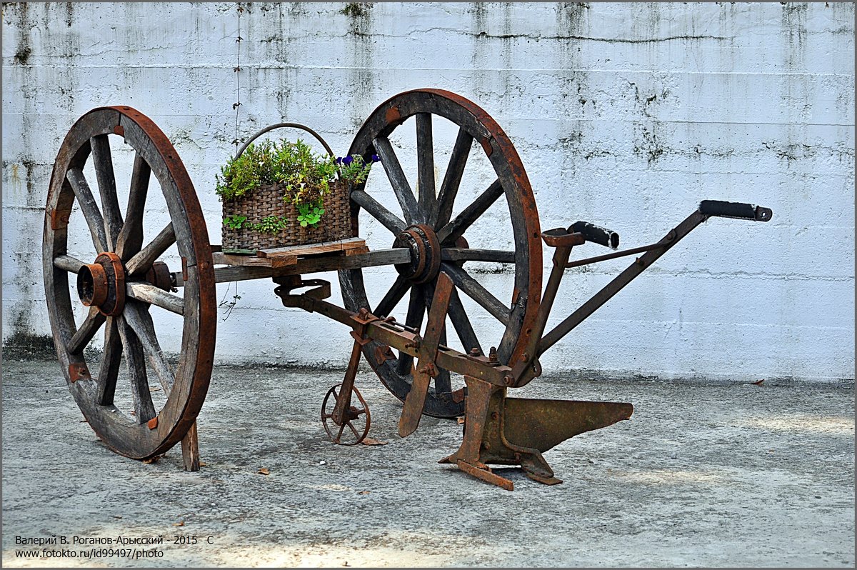
[[[298,123],[277,123],[251,136],[238,151],[240,156],[249,144],[269,130],[280,128],[302,129],[321,142],[328,154],[333,151],[321,135]],[[223,249],[273,249],[306,243],[333,242],[354,237],[351,231],[351,183],[337,181],[330,185],[330,192],[323,196],[325,213],[317,227],[301,226],[297,221],[297,207],[283,201],[283,190],[276,184],[262,186],[235,200],[223,202],[223,216],[246,216],[247,225],[260,223],[267,216],[278,216],[287,220],[285,229],[276,234],[251,230],[247,227],[232,229],[223,225]]]

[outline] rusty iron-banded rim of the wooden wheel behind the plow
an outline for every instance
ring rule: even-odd
[[[464,97],[439,89],[417,89],[399,93],[379,105],[357,132],[348,153],[350,155],[361,154],[364,159],[369,160],[371,155],[376,153],[375,141],[377,138],[387,137],[410,117],[417,117],[417,153],[419,153],[419,120],[420,116],[424,114],[446,118],[458,125],[460,128],[459,135],[461,132],[466,132],[466,135],[472,136],[472,141],[481,143],[482,150],[487,155],[488,161],[494,168],[494,173],[502,184],[502,195],[505,195],[506,203],[509,206],[512,233],[516,245],[514,252],[515,284],[512,291],[512,299],[503,300],[504,302],[509,302],[512,306],[512,315],[508,324],[506,324],[506,331],[502,339],[500,339],[498,348],[500,362],[513,365],[524,357],[524,346],[527,344],[536,321],[542,290],[542,243],[539,237],[540,228],[535,197],[530,188],[529,179],[524,171],[524,165],[521,163],[518,153],[513,147],[512,141],[506,136],[506,133],[500,129],[500,126],[486,111],[470,100],[464,99]],[[428,132],[430,137],[430,130]],[[458,144],[458,141],[456,141],[456,144]],[[476,153],[479,145],[472,145],[472,148],[472,153]],[[466,162],[466,158],[464,161]],[[381,165],[384,165],[385,169],[387,168],[383,159],[381,160]],[[419,169],[420,166],[417,165],[417,170],[419,171]],[[371,177],[372,174],[369,176]],[[357,187],[357,190],[363,189],[364,185]],[[436,188],[436,191],[437,194],[440,194],[439,188]],[[437,209],[442,207],[440,202],[438,202],[435,205],[435,210],[430,213],[430,215],[435,216],[435,222],[441,217]],[[354,235],[358,235],[359,233],[358,216],[362,211],[366,211],[369,215],[375,217],[375,219],[379,219],[378,216],[369,212],[364,202],[358,203],[355,195],[352,195],[351,226]],[[479,213],[476,217],[478,218],[481,215]],[[446,218],[447,221],[448,219]],[[417,222],[419,221],[425,220],[417,220]],[[381,224],[387,225],[383,221],[381,221]],[[416,222],[405,219],[405,227],[399,230],[404,231],[405,228],[411,228],[414,225],[416,225]],[[389,226],[387,226],[387,229],[389,229]],[[434,230],[440,231],[440,228],[434,227]],[[393,237],[396,235],[397,233],[394,233]],[[458,243],[461,243],[458,242],[458,239],[455,240],[456,245],[461,247],[458,245]],[[445,243],[452,243],[452,241]],[[466,241],[464,243],[466,244]],[[441,246],[449,247],[443,243],[441,243]],[[443,262],[441,263],[440,270],[444,271],[445,267],[448,269],[451,265],[459,266],[458,269],[461,269],[460,264],[457,262]],[[436,276],[434,279],[436,279]],[[434,279],[428,279],[428,283],[425,285],[425,290],[428,293],[434,290]],[[339,281],[342,285],[345,306],[348,309],[357,311],[369,305],[363,285],[363,272],[361,269],[340,271]],[[430,294],[427,295],[430,298]],[[413,302],[413,299],[411,302]],[[411,373],[405,371],[404,365],[399,365],[398,369],[394,368],[397,366],[396,362],[398,359],[379,360],[376,358],[375,351],[378,347],[379,345],[376,342],[369,343],[363,347],[363,356],[366,357],[387,389],[397,398],[404,400],[411,389]],[[485,351],[488,350],[487,346],[482,348]],[[456,402],[454,399],[448,398],[444,398],[441,401],[440,398],[435,396],[434,387],[432,387],[429,389],[423,413],[437,417],[459,416],[464,413],[464,401],[458,399],[458,402]]]

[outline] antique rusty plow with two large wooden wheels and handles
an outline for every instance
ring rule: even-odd
[[[416,123],[417,192],[411,189],[390,138],[411,117]],[[457,133],[439,186],[434,175],[433,117],[445,119]],[[124,212],[117,197],[111,136],[121,137],[133,149]],[[475,200],[466,197],[469,203],[456,210],[457,196],[467,196],[459,191],[465,165],[478,153],[488,161],[489,179],[478,187],[484,190]],[[492,472],[489,464],[520,465],[538,482],[560,483],[542,453],[573,435],[627,419],[632,405],[508,398],[508,389],[524,387],[540,375],[539,357],[544,351],[709,217],[758,221],[771,217],[764,207],[702,201],[697,211],[656,243],[569,261],[572,248],[586,242],[616,249],[618,235],[586,222],[541,231],[524,166],[500,126],[469,100],[434,89],[400,93],[380,105],[363,123],[349,154],[381,157],[402,211],[399,217],[371,195],[366,184],[358,185],[351,192],[354,235],[359,236],[361,215],[368,215],[390,232],[387,243],[392,247],[370,250],[363,239],[354,238],[230,255],[209,243],[188,173],[171,142],[149,118],[130,107],[101,107],[69,130],[57,155],[45,210],[45,291],[69,390],[108,447],[133,459],[150,459],[181,442],[185,467],[199,468],[195,420],[212,374],[218,309],[215,284],[273,279],[275,293],[285,306],[351,327],[354,348],[345,379],[327,393],[322,405],[322,421],[334,441],[357,443],[369,430],[369,409],[354,387],[363,355],[383,384],[404,402],[399,435],[417,429],[422,414],[464,415],[464,441],[442,462],[505,489],[512,489],[512,482]],[[84,173],[87,161],[94,171],[100,207],[89,186],[92,175],[87,181]],[[378,170],[370,179],[378,177]],[[170,221],[156,236],[144,239],[144,213],[152,211],[147,207],[147,199],[152,198],[151,177],[159,183]],[[468,238],[473,242],[473,236],[468,230],[489,207],[504,200],[512,228],[511,249],[471,248]],[[91,259],[69,255],[69,219],[75,216],[85,220],[91,234],[95,250]],[[554,250],[553,269],[543,292],[542,242]],[[181,267],[159,261],[173,246]],[[601,291],[545,332],[566,267],[638,254]],[[512,270],[513,290],[505,300],[495,297],[482,279],[468,271],[480,262]],[[372,305],[363,270],[379,266],[395,267],[397,273],[389,291]],[[303,278],[326,271],[339,272],[345,307],[326,300],[331,294],[329,282]],[[69,273],[75,273],[74,294]],[[174,294],[179,290],[183,293]],[[75,295],[79,298],[73,303]],[[407,311],[400,322],[391,313],[405,298]],[[75,324],[78,301],[88,307],[80,325]],[[482,329],[473,326],[475,308],[500,323],[496,339],[477,337],[476,330]],[[162,351],[155,311],[181,319],[177,363]],[[447,339],[447,321],[460,340],[460,350]],[[102,327],[103,352],[95,372],[84,349],[93,344]],[[160,388],[149,386],[152,376]],[[453,377],[456,381],[463,377],[464,386],[453,386]],[[117,407],[117,386],[129,389],[134,411],[126,413]],[[155,389],[164,394],[157,406],[152,397]]]

